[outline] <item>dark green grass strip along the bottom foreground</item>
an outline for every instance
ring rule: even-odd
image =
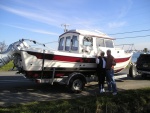
[[[93,92],[94,93],[94,92]],[[99,94],[77,99],[30,102],[0,107],[1,113],[150,113],[150,88],[118,95]]]

